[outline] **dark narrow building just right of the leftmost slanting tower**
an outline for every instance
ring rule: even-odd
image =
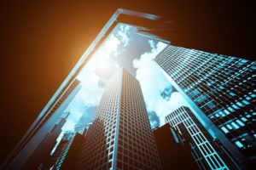
[[[44,139],[38,145],[38,148],[32,153],[32,156],[26,161],[24,169],[38,169],[48,166],[51,150],[54,149],[56,139],[61,134],[61,127],[66,122],[69,113],[63,113],[63,118],[55,123],[54,127],[44,136]]]

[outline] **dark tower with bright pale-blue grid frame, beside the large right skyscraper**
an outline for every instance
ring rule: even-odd
[[[214,144],[210,135],[188,107],[180,107],[166,116],[166,123],[188,140],[195,161],[201,169],[239,169],[228,153]]]

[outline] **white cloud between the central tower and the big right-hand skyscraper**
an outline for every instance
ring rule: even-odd
[[[136,78],[141,83],[143,97],[148,111],[155,111],[160,117],[160,126],[165,123],[165,116],[176,110],[181,105],[186,105],[185,100],[179,93],[172,93],[167,101],[160,93],[171,85],[160,70],[160,66],[154,62],[154,57],[166,47],[163,42],[155,44],[148,41],[151,51],[141,55],[140,59],[134,59],[133,66],[137,68]]]

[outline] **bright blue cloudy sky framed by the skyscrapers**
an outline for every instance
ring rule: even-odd
[[[137,34],[133,26],[117,25],[79,73],[82,88],[67,106],[70,116],[63,133],[73,131],[80,120],[93,121],[104,86],[120,67],[140,82],[151,127],[164,125],[166,115],[186,105],[153,60],[165,47],[164,42]]]

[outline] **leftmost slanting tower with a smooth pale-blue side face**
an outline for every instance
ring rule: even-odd
[[[52,129],[55,122],[59,120],[63,111],[67,108],[67,105],[70,104],[81,88],[82,86],[77,79],[63,88],[61,94],[50,102],[51,105],[47,107],[48,109],[43,110],[37,120],[33,122],[23,138],[20,139],[20,143],[16,145],[15,149],[0,168],[20,169],[23,167],[29,157],[32,156],[33,151],[38,148],[44,136]]]

